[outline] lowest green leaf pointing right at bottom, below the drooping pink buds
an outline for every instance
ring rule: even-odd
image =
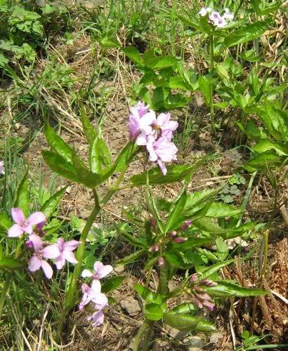
[[[213,324],[202,319],[202,317],[191,316],[190,314],[174,314],[166,312],[163,315],[166,324],[180,331],[199,331],[213,333],[216,328]]]

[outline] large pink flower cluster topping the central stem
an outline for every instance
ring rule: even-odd
[[[166,162],[176,160],[177,147],[171,142],[173,132],[178,128],[176,121],[170,121],[169,113],[161,113],[158,117],[144,102],[131,107],[129,116],[130,140],[136,145],[145,146],[149,159],[157,162],[164,176],[167,173]]]

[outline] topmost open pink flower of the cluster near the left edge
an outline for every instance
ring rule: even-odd
[[[32,213],[27,220],[21,208],[11,208],[11,216],[15,222],[8,229],[8,237],[20,237],[23,233],[32,234],[34,225],[44,225],[46,217],[42,212]]]

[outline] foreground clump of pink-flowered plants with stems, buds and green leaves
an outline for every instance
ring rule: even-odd
[[[127,213],[127,221],[139,225],[139,230],[136,231],[138,234],[131,234],[127,230],[128,223],[117,226],[119,235],[135,246],[136,251],[115,263],[115,265],[129,264],[141,258],[145,262],[143,270],[149,272],[146,285],[136,284],[135,286],[136,291],[145,301],[143,326],[136,335],[135,350],[148,350],[155,321],[164,320],[170,326],[181,330],[211,332],[215,330],[214,325],[202,319],[199,310],[204,307],[212,310],[214,297],[245,297],[263,294],[261,290],[245,289],[218,279],[216,274],[218,270],[233,262],[228,259],[228,246],[225,246],[225,239],[247,233],[254,227],[254,223],[235,225],[235,220],[231,220],[229,225],[222,220],[222,226],[216,225],[215,218],[240,216],[242,210],[233,206],[223,206],[214,201],[219,190],[188,193],[188,183],[192,173],[207,159],[202,159],[193,165],[166,166],[167,162],[176,159],[177,153],[172,139],[178,124],[176,121],[171,121],[170,114],[161,113],[157,116],[143,102],[138,102],[131,107],[130,141],[114,161],[100,131],[91,125],[84,108],[81,109],[81,121],[89,143],[89,166],[47,122],[45,135],[51,150],[43,150],[42,154],[55,173],[91,189],[94,200],[93,211],[86,221],[79,240],[64,241],[60,237],[57,242],[48,242],[45,240],[45,223],[55,211],[55,206],[63,196],[66,187],[48,199],[44,206],[39,208],[40,211],[27,217],[30,213],[30,201],[27,174],[25,175],[18,187],[15,204],[11,210],[11,217],[15,224],[11,223],[9,216],[1,213],[1,226],[6,227],[8,239],[17,238],[18,240],[15,258],[2,255],[0,260],[0,267],[7,271],[4,289],[1,292],[1,310],[4,307],[9,284],[13,279],[11,271],[22,269],[27,265],[30,272],[33,273],[41,268],[46,277],[52,279],[53,268],[47,260],[52,260],[57,269],[62,269],[67,260],[74,265],[74,270],[70,282],[67,283],[65,305],[58,319],[56,337],[60,339],[67,313],[77,304],[80,310],[88,304],[93,305],[95,312],[89,320],[92,321],[93,326],[103,324],[103,310],[108,303],[105,293],[117,288],[122,279],[115,280],[112,277],[108,281],[110,284],[104,283],[101,286],[100,279],[112,272],[111,265],[103,265],[96,261],[93,272],[83,269],[86,238],[96,216],[107,201],[119,190],[138,186],[145,186],[146,205],[151,216],[140,223],[138,218],[133,218],[131,213]],[[159,167],[139,173],[125,179],[124,182],[126,170],[138,152],[147,152],[149,160],[156,162]],[[162,199],[157,202],[153,197],[152,185],[182,181],[183,189],[175,201]],[[107,193],[100,197],[98,189],[103,183],[108,184],[108,189]],[[201,269],[196,269],[196,257],[199,256],[202,246],[214,243],[219,248],[219,255],[212,256],[216,262],[208,267],[202,265]],[[76,250],[75,255],[74,250]],[[211,255],[209,257],[211,258]],[[151,291],[148,288],[153,270],[159,270],[157,291]],[[183,282],[178,288],[169,291],[168,283],[173,279],[176,270],[185,271]],[[91,285],[82,281],[80,286],[80,276],[83,279],[92,279]],[[178,298],[181,298],[183,303],[169,309],[170,301]]]

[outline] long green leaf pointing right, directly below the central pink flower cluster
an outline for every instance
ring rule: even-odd
[[[162,171],[158,167],[152,168],[148,171],[149,184],[155,185],[155,184],[181,182],[181,180],[185,179],[189,173],[191,173],[191,175],[195,173],[195,171],[197,171],[199,166],[202,166],[202,164],[204,164],[204,161],[206,161],[206,159],[202,159],[196,162],[192,166],[188,166],[188,165],[168,166],[166,176],[163,176]],[[136,185],[136,186],[145,185],[146,175],[147,175],[147,172],[137,174],[136,176],[131,177],[130,181],[131,183],[133,183],[133,185]]]

